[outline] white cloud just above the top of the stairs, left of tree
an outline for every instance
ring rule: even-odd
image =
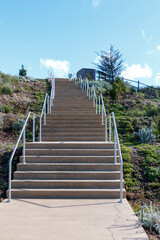
[[[49,69],[51,68],[55,77],[68,77],[70,68],[70,63],[68,61],[40,58],[40,63]]]

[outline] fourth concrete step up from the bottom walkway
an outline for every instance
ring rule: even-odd
[[[120,164],[109,163],[19,163],[18,171],[120,171]]]

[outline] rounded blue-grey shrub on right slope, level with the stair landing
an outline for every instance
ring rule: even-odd
[[[141,143],[153,143],[156,141],[156,135],[153,133],[152,127],[142,128],[135,135],[138,136]]]

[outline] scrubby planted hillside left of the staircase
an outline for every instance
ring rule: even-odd
[[[8,162],[17,141],[19,132],[28,111],[40,113],[45,93],[50,85],[45,79],[32,79],[0,73],[0,199],[5,197],[8,189]],[[31,139],[27,127],[26,136]],[[38,131],[38,129],[36,129]],[[16,151],[13,170],[19,161],[21,147]]]

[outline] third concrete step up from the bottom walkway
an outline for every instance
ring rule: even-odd
[[[16,171],[14,179],[120,179],[120,171]]]

